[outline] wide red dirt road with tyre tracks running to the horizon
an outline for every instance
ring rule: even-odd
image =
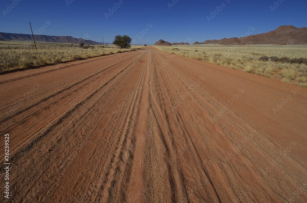
[[[307,88],[147,47],[0,95],[11,202],[307,201]]]

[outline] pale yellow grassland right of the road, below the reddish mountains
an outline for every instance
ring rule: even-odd
[[[307,87],[307,45],[155,47],[164,52]]]

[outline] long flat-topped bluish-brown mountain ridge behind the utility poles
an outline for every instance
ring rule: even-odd
[[[36,42],[57,42],[68,44],[79,44],[81,42],[86,45],[98,45],[100,42],[92,40],[84,40],[82,38],[73,38],[72,36],[48,36],[48,35],[34,35]],[[0,41],[33,41],[32,35],[28,34],[14,34],[14,33],[0,33]],[[110,44],[110,43],[105,43]]]

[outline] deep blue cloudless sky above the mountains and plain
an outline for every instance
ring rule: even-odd
[[[18,4],[10,11],[7,5],[10,6],[12,1]],[[255,29],[252,34],[259,34],[280,25],[307,26],[307,2],[302,0],[177,1],[173,0],[177,3],[169,9],[168,3],[172,4],[172,0],[122,0],[122,5],[106,19],[105,13],[120,0],[1,0],[0,18],[31,21],[37,25],[49,21],[50,28],[72,32],[43,28],[42,35],[73,36],[99,42],[102,42],[103,36],[104,42],[110,43],[115,35],[129,35],[138,44],[154,44],[160,39],[192,44],[195,41],[240,37],[249,27]],[[270,6],[274,8],[274,1],[281,4],[278,7],[276,4],[277,8],[271,12]],[[225,7],[217,12],[216,6],[222,3]],[[3,10],[10,12],[3,13]],[[208,22],[207,16],[215,10],[218,14],[212,15],[214,18]],[[138,33],[146,29],[147,24],[153,27],[141,38]],[[33,30],[41,28],[37,25],[33,25]],[[30,34],[31,30],[29,24],[0,19],[0,32]],[[89,38],[84,33],[90,35]],[[192,38],[191,41],[186,37]]]

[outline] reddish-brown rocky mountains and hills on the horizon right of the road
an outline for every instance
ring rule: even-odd
[[[162,40],[163,41],[163,40]],[[165,42],[165,41],[164,41]],[[170,43],[169,43],[170,44]],[[178,44],[178,43],[173,43]],[[282,25],[274,31],[245,37],[223,38],[221,40],[206,40],[194,44],[221,44],[221,45],[245,45],[245,44],[307,44],[307,28],[297,28],[293,25]],[[155,45],[161,44],[159,40]]]

